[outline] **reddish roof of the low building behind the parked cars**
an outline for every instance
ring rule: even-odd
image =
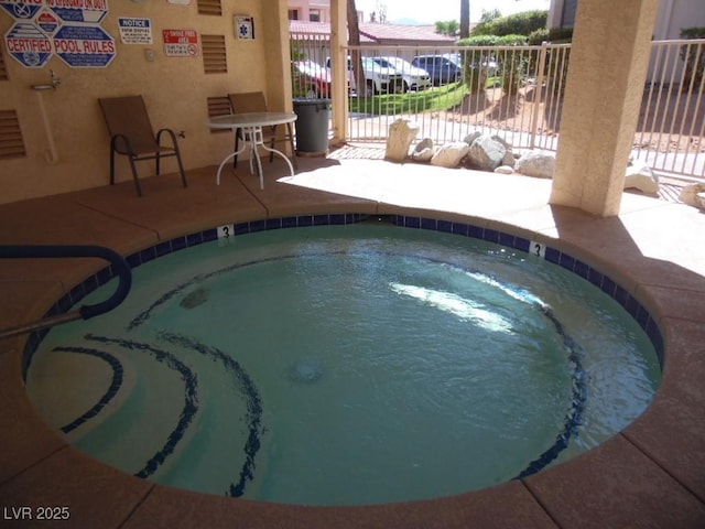
[[[393,41],[394,44],[402,44],[408,41],[410,44],[419,42],[451,45],[456,42],[454,36],[441,35],[436,33],[434,25],[404,25],[383,24],[375,22],[360,22],[360,42],[386,44]],[[306,22],[303,20],[289,21],[290,33],[313,33],[329,35],[330,25],[327,22]]]

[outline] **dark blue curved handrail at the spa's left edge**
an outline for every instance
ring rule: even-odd
[[[19,325],[0,331],[0,339],[24,334],[32,331],[53,327],[61,323],[74,320],[88,320],[118,306],[127,298],[132,285],[132,272],[130,266],[115,250],[102,246],[0,246],[0,259],[26,259],[26,258],[64,258],[64,257],[97,257],[110,262],[112,271],[119,276],[118,288],[106,301],[93,305],[82,305],[77,311],[66,314],[48,316],[37,322]]]

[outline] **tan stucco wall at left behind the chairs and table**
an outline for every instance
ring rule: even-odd
[[[196,0],[189,6],[170,4],[165,0],[140,3],[111,0],[109,9],[101,26],[115,39],[117,54],[105,68],[72,68],[58,57],[52,57],[41,68],[26,68],[7,53],[3,42],[10,80],[0,82],[0,110],[17,111],[26,158],[0,160],[0,203],[108,183],[109,137],[99,97],[141,94],[155,130],[170,127],[185,132],[181,148],[187,170],[219,162],[232,147],[231,134],[214,134],[205,125],[208,97],[261,89],[272,109],[291,109],[285,0],[224,1],[221,17],[199,15]],[[235,14],[254,17],[254,40],[236,39]],[[119,17],[150,19],[153,44],[122,44]],[[13,23],[2,10],[2,35]],[[203,54],[195,58],[165,56],[164,29],[225,35],[228,73],[204,74]],[[145,58],[147,48],[154,51],[154,61]],[[50,80],[50,69],[62,80],[57,89],[32,90],[31,85]],[[44,98],[56,144],[56,163],[45,158],[47,140],[37,97]],[[142,162],[138,166],[140,174],[153,174],[152,163]],[[164,172],[175,169],[173,159],[164,162]],[[123,156],[119,158],[117,173],[118,181],[131,179]]]

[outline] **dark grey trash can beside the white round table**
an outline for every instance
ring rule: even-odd
[[[330,99],[295,98],[294,112],[296,112],[296,154],[327,154]]]

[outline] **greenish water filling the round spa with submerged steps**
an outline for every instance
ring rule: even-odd
[[[615,435],[661,377],[599,289],[448,234],[260,231],[133,273],[116,311],[47,335],[28,391],[78,450],[182,488],[308,505],[474,490]]]

